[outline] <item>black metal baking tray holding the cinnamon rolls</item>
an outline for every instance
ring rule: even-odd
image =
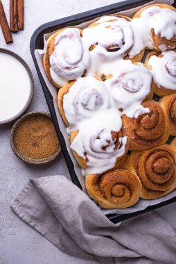
[[[69,156],[69,153],[67,151],[67,146],[64,141],[64,137],[60,131],[60,126],[58,124],[58,119],[55,114],[55,109],[53,105],[53,97],[51,93],[49,92],[49,89],[46,86],[46,83],[42,77],[42,74],[39,70],[39,67],[37,65],[37,60],[35,58],[35,49],[43,49],[44,48],[44,34],[53,32],[55,30],[58,30],[59,28],[64,28],[66,26],[74,26],[77,24],[81,24],[82,22],[87,22],[91,19],[94,19],[96,17],[100,17],[102,15],[107,15],[107,14],[112,14],[112,13],[117,13],[121,12],[123,10],[127,10],[130,8],[135,8],[137,6],[141,6],[145,3],[150,3],[150,1],[141,1],[141,0],[136,0],[136,1],[122,1],[118,3],[111,4],[109,6],[103,6],[101,8],[97,8],[94,10],[87,11],[85,13],[80,13],[78,15],[71,15],[70,17],[64,17],[62,19],[58,19],[46,24],[43,24],[42,26],[39,26],[39,28],[36,29],[36,31],[33,33],[32,38],[30,40],[30,52],[33,56],[33,61],[35,63],[35,67],[37,69],[37,74],[39,76],[40,83],[42,85],[42,89],[44,91],[44,95],[46,98],[46,102],[49,106],[49,111],[51,113],[51,117],[53,119],[53,123],[55,125],[56,132],[58,134],[58,138],[60,140],[60,145],[62,147],[62,151],[64,154],[64,158],[67,163],[67,167],[69,169],[69,173],[71,175],[71,180],[73,181],[74,184],[78,186],[82,190],[82,186],[80,185],[80,182],[78,180],[78,177],[76,175],[76,172],[74,170],[73,162]],[[57,88],[56,88],[57,89]],[[117,214],[111,214],[107,215],[109,220],[111,220],[114,223],[122,222],[123,220],[127,220],[131,217],[141,215],[143,213],[147,213],[149,211],[152,211],[154,209],[157,209],[161,206],[166,206],[168,204],[171,204],[176,201],[176,197],[169,199],[168,201],[161,202],[160,204],[154,205],[154,206],[148,206],[145,210],[138,211],[135,213],[128,213],[124,215],[117,215]]]

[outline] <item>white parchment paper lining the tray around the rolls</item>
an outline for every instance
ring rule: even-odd
[[[143,5],[143,6],[148,6],[151,3],[167,3],[167,4],[172,4],[173,1],[171,0],[166,0],[166,1],[148,1],[147,4]],[[120,14],[123,15],[127,15],[128,17],[132,17],[132,15],[134,15],[134,13],[137,12],[137,10],[139,10],[140,8],[142,8],[143,6],[139,6],[137,8],[132,8],[130,10],[125,10],[122,11]],[[96,21],[98,19],[98,17],[96,19],[92,19],[89,22],[85,22],[82,24],[77,25],[77,27],[79,28],[85,28],[87,27],[89,24],[91,24],[92,22]],[[76,26],[75,26],[76,27]],[[44,81],[47,85],[47,87],[49,88],[49,91],[51,92],[52,96],[53,96],[53,104],[54,104],[54,108],[55,108],[55,113],[57,115],[58,118],[58,123],[60,125],[60,131],[62,132],[63,136],[64,136],[64,140],[66,142],[67,145],[67,149],[69,151],[69,155],[71,156],[71,160],[73,161],[73,165],[76,171],[76,174],[78,176],[78,179],[80,181],[80,184],[82,185],[82,190],[87,193],[86,189],[85,189],[85,177],[82,176],[82,172],[81,172],[81,168],[78,165],[76,159],[73,157],[73,154],[71,152],[71,148],[70,148],[70,142],[69,142],[69,135],[67,133],[66,130],[66,126],[62,120],[62,117],[60,115],[60,112],[58,110],[58,101],[57,101],[57,97],[58,97],[58,88],[55,88],[55,86],[49,81],[48,77],[46,76],[45,72],[44,72],[44,66],[43,66],[43,54],[45,52],[46,49],[46,40],[49,38],[49,36],[53,34],[52,33],[48,33],[46,35],[44,35],[44,49],[43,50],[35,50],[35,57],[37,59],[37,63],[39,65],[39,69],[40,72],[44,78]],[[141,211],[143,209],[145,209],[148,206],[152,206],[155,204],[159,204],[162,201],[166,201],[170,198],[173,198],[176,196],[176,190],[174,190],[173,192],[171,192],[170,194],[161,197],[159,199],[153,199],[153,200],[145,200],[145,199],[139,199],[139,201],[137,202],[137,204],[135,204],[134,206],[130,207],[130,208],[124,208],[124,209],[103,209],[101,208],[101,210],[105,213],[105,214],[110,214],[110,213],[118,213],[118,214],[125,214],[125,213],[133,213],[136,211]]]

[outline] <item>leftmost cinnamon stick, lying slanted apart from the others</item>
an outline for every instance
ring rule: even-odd
[[[0,0],[0,25],[3,31],[3,36],[4,36],[4,39],[6,40],[6,43],[12,42],[13,41],[12,35],[10,32],[10,28],[8,26],[8,21],[7,21],[6,14],[4,12],[3,4],[1,0]]]

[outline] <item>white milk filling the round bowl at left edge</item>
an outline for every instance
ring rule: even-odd
[[[17,58],[0,52],[0,122],[17,115],[30,96],[30,77]]]

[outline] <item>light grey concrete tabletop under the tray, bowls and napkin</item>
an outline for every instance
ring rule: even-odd
[[[25,1],[25,29],[13,34],[14,43],[6,44],[0,30],[0,47],[18,53],[33,72],[35,92],[27,109],[48,111],[33,60],[30,56],[30,37],[37,26],[61,17],[115,3],[117,0],[30,0]],[[2,0],[8,16],[9,1]],[[2,264],[58,264],[94,263],[64,254],[10,210],[10,201],[31,178],[64,174],[69,178],[62,154],[50,165],[26,165],[13,154],[10,147],[10,124],[0,125],[0,263]]]

